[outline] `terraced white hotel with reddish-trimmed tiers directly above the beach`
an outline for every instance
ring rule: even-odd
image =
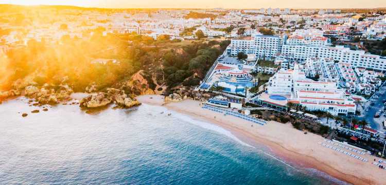
[[[307,110],[322,110],[332,115],[355,113],[355,101],[336,82],[319,82],[307,79],[297,66],[294,70],[280,70],[269,79],[268,93],[259,100],[271,104],[271,95],[287,97],[285,103],[305,106]]]

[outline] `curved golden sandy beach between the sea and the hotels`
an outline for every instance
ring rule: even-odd
[[[146,95],[137,98],[140,102],[165,106],[170,110],[187,114],[217,124],[247,142],[263,144],[277,156],[300,167],[323,171],[332,177],[352,184],[386,184],[383,178],[386,170],[372,164],[378,158],[364,154],[358,155],[369,161],[363,162],[335,150],[323,147],[324,138],[312,133],[304,134],[292,127],[269,121],[265,125],[251,122],[230,115],[224,116],[201,108],[201,102],[184,100],[177,103],[164,104],[163,96]]]

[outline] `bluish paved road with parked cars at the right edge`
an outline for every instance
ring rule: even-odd
[[[386,99],[386,93],[385,93],[385,90],[380,90],[381,91],[381,95],[379,96],[379,98],[377,99],[377,101],[375,101],[374,105],[371,106],[370,103],[371,101],[368,101],[366,104],[365,104],[365,107],[364,109],[366,109],[367,107],[370,107],[371,109],[368,111],[368,112],[362,112],[362,114],[364,114],[364,117],[362,118],[358,118],[359,120],[365,120],[367,123],[370,123],[371,127],[372,128],[375,128],[379,131],[383,131],[383,126],[382,126],[382,121],[384,119],[386,119],[386,117],[383,117],[383,114],[381,115],[380,118],[374,118],[374,115],[375,113],[381,109],[383,110],[383,103],[382,103],[382,100],[383,99]]]

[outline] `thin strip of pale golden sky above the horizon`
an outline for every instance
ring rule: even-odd
[[[98,8],[386,8],[386,0],[0,0],[0,4]]]

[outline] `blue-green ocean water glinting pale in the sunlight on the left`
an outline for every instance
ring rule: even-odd
[[[0,120],[0,184],[345,184],[160,106],[44,112],[18,98]]]

